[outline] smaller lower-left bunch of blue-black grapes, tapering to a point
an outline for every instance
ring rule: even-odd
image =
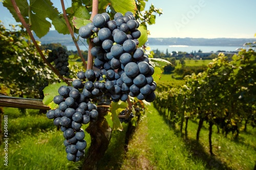
[[[97,106],[91,103],[83,93],[79,92],[79,88],[73,82],[74,87],[61,86],[58,89],[59,95],[53,99],[58,108],[49,110],[47,117],[54,119],[53,124],[60,126],[60,130],[65,137],[64,145],[66,147],[67,159],[77,162],[80,157],[84,156],[84,149],[87,142],[84,140],[85,133],[81,129],[82,124],[88,124],[95,121],[98,116]]]

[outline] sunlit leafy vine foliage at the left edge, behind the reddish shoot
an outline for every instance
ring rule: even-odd
[[[0,51],[2,93],[39,98],[39,87],[46,82],[58,80],[44,64],[28,34],[21,27],[13,26],[12,30],[6,30],[0,22]],[[42,52],[45,54],[45,51]],[[5,88],[9,90],[6,91]]]

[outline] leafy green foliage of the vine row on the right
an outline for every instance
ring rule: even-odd
[[[216,125],[219,125],[217,119],[223,119],[225,128],[242,130],[246,126],[242,120],[254,126],[255,56],[251,49],[241,50],[238,55],[233,56],[232,61],[220,54],[207,65],[205,71],[186,76],[185,85],[158,92],[158,109],[167,109],[167,117],[172,121],[189,116]],[[183,105],[186,108],[185,115]]]

